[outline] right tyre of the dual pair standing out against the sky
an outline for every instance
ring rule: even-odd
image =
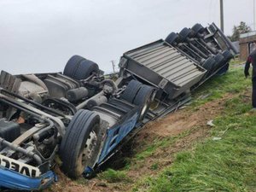
[[[87,79],[92,73],[99,73],[99,66],[90,60],[84,60],[79,63],[75,73],[73,74],[73,79]]]

